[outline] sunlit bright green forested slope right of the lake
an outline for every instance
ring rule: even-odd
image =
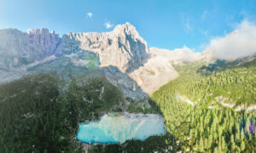
[[[255,105],[256,64],[198,71],[203,64],[177,66],[179,77],[152,95],[175,136],[173,150],[252,152],[256,150],[256,111],[236,111]],[[233,109],[218,101],[234,104]],[[188,103],[193,102],[194,105]],[[221,101],[220,100],[220,101]]]

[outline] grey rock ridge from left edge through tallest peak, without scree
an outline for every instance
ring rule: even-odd
[[[1,33],[0,54],[8,59],[2,60],[1,65],[6,68],[26,65],[50,55],[76,54],[83,50],[98,54],[101,66],[112,65],[122,72],[137,70],[148,59],[147,42],[129,22],[109,32],[69,32],[62,37],[45,28],[27,32],[3,30]]]

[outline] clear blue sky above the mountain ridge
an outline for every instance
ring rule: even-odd
[[[196,52],[242,20],[256,20],[256,0],[0,0],[0,29],[102,32],[128,21],[149,47]]]

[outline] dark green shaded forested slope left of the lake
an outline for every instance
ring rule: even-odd
[[[0,86],[0,152],[83,152],[79,122],[97,119],[123,97],[104,77],[63,90],[58,75],[39,74]],[[102,90],[104,88],[104,91]]]

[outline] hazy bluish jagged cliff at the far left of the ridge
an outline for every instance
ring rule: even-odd
[[[55,54],[61,38],[48,29],[27,33],[16,29],[0,30],[0,67],[13,69]]]

